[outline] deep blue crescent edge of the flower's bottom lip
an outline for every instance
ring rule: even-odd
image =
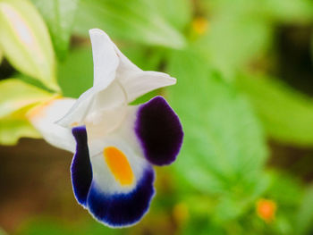
[[[154,171],[151,166],[145,170],[135,189],[129,193],[106,194],[93,181],[89,190],[87,206],[97,221],[109,227],[127,227],[139,222],[148,212],[155,194]]]

